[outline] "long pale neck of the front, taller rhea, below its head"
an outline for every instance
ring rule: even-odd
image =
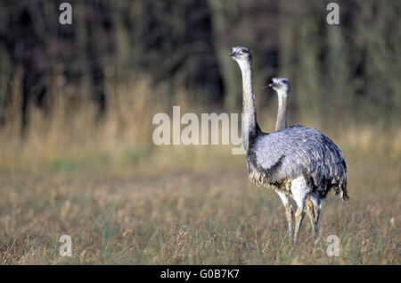
[[[242,144],[248,151],[250,137],[256,136],[258,123],[250,62],[241,62],[240,67],[242,73]]]

